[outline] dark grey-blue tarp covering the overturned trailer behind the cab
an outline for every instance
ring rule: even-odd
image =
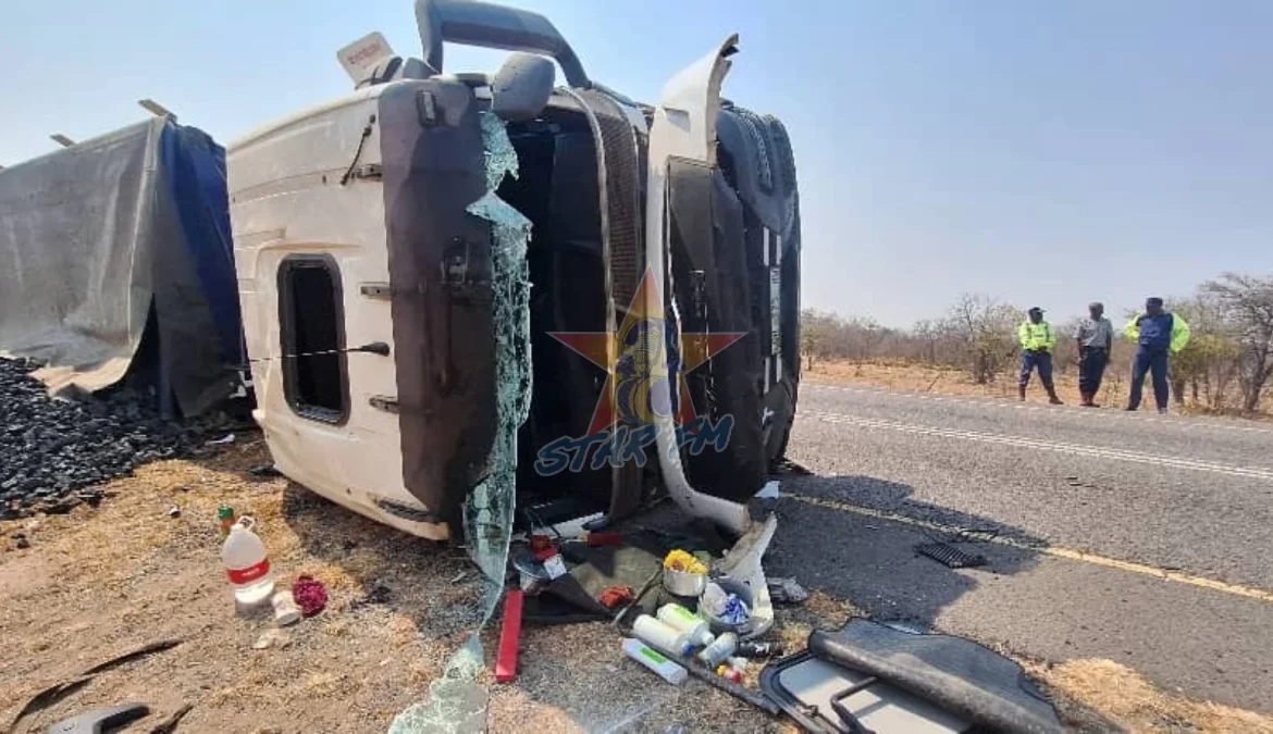
[[[225,151],[168,118],[0,170],[0,354],[94,392],[127,373],[153,313],[153,374],[197,415],[244,360],[232,247]]]

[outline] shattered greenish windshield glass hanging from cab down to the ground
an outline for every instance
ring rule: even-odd
[[[517,506],[517,431],[531,410],[530,270],[526,247],[531,221],[495,190],[505,174],[517,176],[517,153],[504,122],[481,112],[486,155],[486,193],[467,211],[491,226],[491,323],[495,338],[495,440],[486,476],[465,501],[463,523],[468,553],[482,571],[481,622],[472,636],[451,655],[443,677],[429,687],[430,696],[398,714],[391,734],[460,733],[485,719],[485,692],[475,686],[481,673],[481,627],[490,621],[504,592],[508,547]]]

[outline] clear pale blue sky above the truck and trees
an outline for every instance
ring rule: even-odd
[[[791,134],[806,308],[904,327],[980,293],[1064,322],[1273,272],[1273,3],[509,4],[644,102],[740,33],[724,93]],[[348,92],[336,50],[370,31],[419,55],[411,0],[8,0],[0,165],[144,97],[229,142]]]

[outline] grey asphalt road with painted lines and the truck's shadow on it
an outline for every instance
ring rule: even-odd
[[[770,574],[1273,712],[1273,429],[805,383],[791,455]],[[987,566],[913,550],[959,529]]]

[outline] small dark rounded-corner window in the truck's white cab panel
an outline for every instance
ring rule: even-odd
[[[297,415],[349,417],[340,267],[330,254],[289,254],[279,265],[283,392]]]

